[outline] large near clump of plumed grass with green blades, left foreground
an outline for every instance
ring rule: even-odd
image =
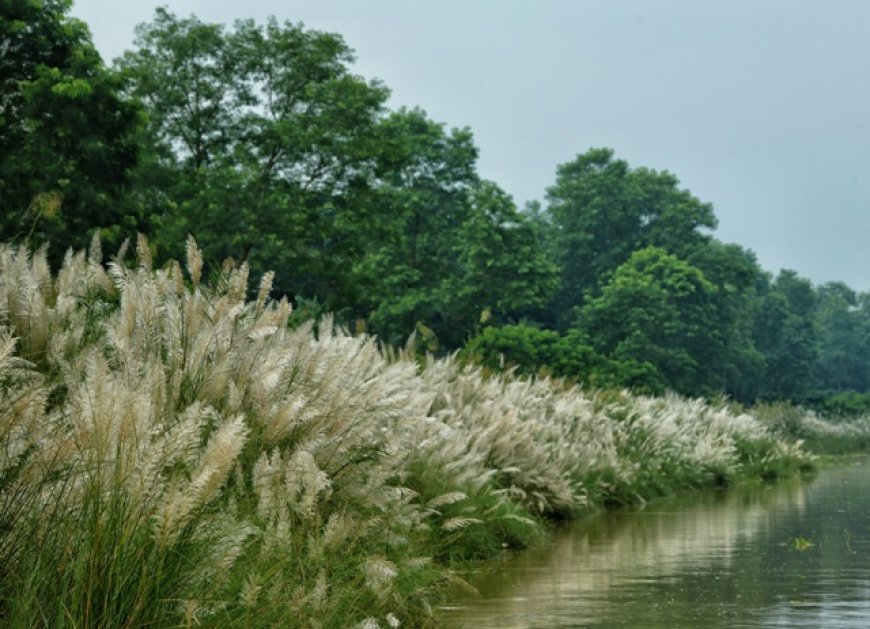
[[[138,252],[133,269],[68,255],[57,278],[44,252],[0,253],[3,622],[419,613],[443,571],[406,592],[373,576],[413,559],[403,538],[428,518],[398,483],[415,366],[330,322],[290,330],[270,276],[245,299],[244,266],[203,286],[193,241],[186,277]]]

